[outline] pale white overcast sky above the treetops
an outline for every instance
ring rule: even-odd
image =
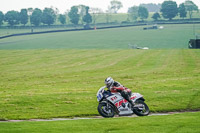
[[[74,5],[86,5],[89,7],[101,8],[103,11],[108,9],[111,0],[0,0],[0,11],[6,13],[10,10],[20,11],[22,8],[40,8],[55,7],[60,13],[64,13]],[[118,0],[123,4],[123,8],[119,12],[127,12],[128,8],[141,3],[162,3],[164,0]],[[185,0],[174,0],[177,4],[183,3]],[[192,0],[200,8],[200,0]]]

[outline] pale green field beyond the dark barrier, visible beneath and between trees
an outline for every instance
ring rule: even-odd
[[[148,21],[148,23],[154,23],[154,20],[152,19],[152,15],[154,13],[150,12],[149,13],[149,17],[145,20]],[[193,17],[192,18],[200,18],[200,13],[199,12],[194,12],[193,13]],[[177,19],[182,19],[179,16],[176,16],[173,20],[177,20]],[[189,15],[187,15],[186,18],[184,19],[189,19]],[[183,21],[184,21],[183,19]],[[160,20],[168,20],[168,19],[164,19],[160,18]],[[139,18],[137,19],[137,21],[141,21]],[[109,15],[109,20],[107,20],[106,14],[99,14],[98,16],[96,16],[96,25],[97,27],[102,27],[102,26],[114,26],[115,24],[120,25],[122,22],[135,22],[135,20],[131,20],[131,18],[128,17],[127,13],[117,13],[117,14],[110,14]],[[193,22],[193,21],[192,21]],[[110,24],[108,24],[110,23]],[[114,24],[113,24],[114,23]],[[79,27],[78,28],[83,28],[81,21],[79,22]],[[67,23],[65,26],[62,27],[62,24],[60,22],[58,22],[58,20],[54,23],[55,26],[50,26],[48,27],[47,25],[42,25],[44,27],[40,27],[40,28],[35,28],[34,27],[34,32],[38,32],[38,31],[49,31],[49,30],[63,30],[63,29],[74,29],[75,27],[73,26],[73,24],[69,21],[69,18],[67,19]],[[94,22],[91,23],[91,27],[94,27],[93,25]],[[7,23],[4,23],[3,26],[8,26]],[[19,25],[18,25],[19,26]],[[22,25],[20,25],[22,26]],[[26,26],[30,26],[30,22],[26,25]],[[61,26],[61,27],[58,27]],[[77,28],[77,27],[76,27]],[[27,28],[27,29],[14,29],[14,28],[1,28],[0,27],[0,36],[5,36],[5,35],[10,35],[10,34],[16,34],[16,33],[30,33],[31,32],[31,28]]]

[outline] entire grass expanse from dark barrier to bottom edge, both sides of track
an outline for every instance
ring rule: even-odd
[[[1,39],[0,120],[98,115],[96,92],[108,76],[143,94],[151,112],[200,110],[200,50],[187,49],[199,27],[144,31],[140,26]],[[0,132],[197,133],[199,116],[0,122]]]

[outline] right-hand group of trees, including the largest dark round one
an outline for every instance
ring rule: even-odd
[[[161,15],[165,19],[172,20],[176,16],[180,16],[180,18],[186,18],[187,13],[189,14],[189,18],[192,18],[192,14],[194,11],[199,11],[198,6],[190,1],[186,0],[184,3],[181,3],[179,6],[175,1],[164,1],[161,4],[160,12],[155,12],[152,16],[154,20],[158,20],[161,18]],[[144,4],[140,6],[133,6],[128,10],[129,18],[132,20],[137,20],[140,18],[142,21],[149,17],[149,12]]]

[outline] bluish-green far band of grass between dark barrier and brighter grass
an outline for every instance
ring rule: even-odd
[[[162,25],[75,31],[11,37],[0,40],[0,49],[128,49],[128,44],[150,49],[188,48],[188,41],[200,34],[200,24]]]

